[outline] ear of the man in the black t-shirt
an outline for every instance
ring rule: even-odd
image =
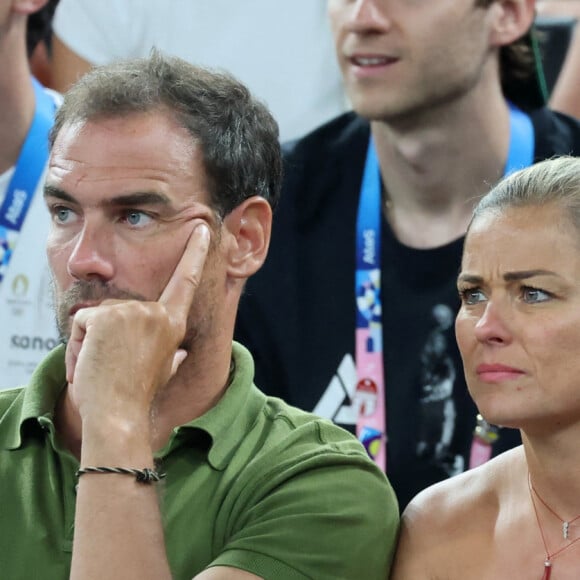
[[[532,26],[536,0],[496,0],[489,8],[493,12],[491,45],[505,46],[521,38]]]

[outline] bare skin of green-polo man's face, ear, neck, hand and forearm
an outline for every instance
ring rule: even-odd
[[[223,393],[269,205],[252,197],[216,219],[200,151],[163,110],[65,124],[45,198],[69,339],[59,437],[81,466],[153,467],[173,428]],[[76,507],[71,578],[101,578],[103,553],[109,578],[170,578],[155,486],[84,476]],[[230,568],[197,577],[255,578]]]

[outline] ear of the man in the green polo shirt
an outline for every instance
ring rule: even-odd
[[[249,278],[257,272],[268,253],[272,231],[272,208],[260,196],[246,199],[224,218],[227,232],[228,274]]]

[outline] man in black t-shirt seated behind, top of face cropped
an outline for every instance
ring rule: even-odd
[[[329,0],[355,112],[286,147],[270,254],[240,305],[237,337],[255,355],[256,384],[360,427],[356,240],[372,136],[386,471],[401,507],[470,464],[477,410],[453,319],[476,199],[507,171],[580,151],[580,124],[543,107],[533,4]],[[518,443],[500,429],[491,451]]]

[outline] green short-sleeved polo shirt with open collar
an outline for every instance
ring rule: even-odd
[[[261,393],[244,347],[233,355],[220,402],[156,455],[173,578],[223,565],[273,580],[385,580],[399,516],[384,474],[346,431]],[[53,423],[64,385],[59,347],[27,387],[0,392],[2,578],[69,576],[78,462]]]

